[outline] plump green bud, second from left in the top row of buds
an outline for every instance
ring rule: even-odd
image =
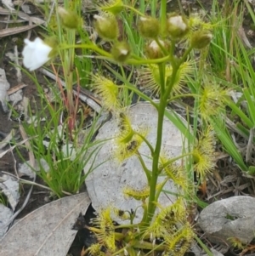
[[[98,32],[99,37],[109,41],[115,40],[118,37],[118,23],[114,15],[103,17],[95,14],[94,19],[95,30]]]

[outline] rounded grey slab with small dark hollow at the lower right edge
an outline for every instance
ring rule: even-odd
[[[228,244],[231,237],[243,244],[255,236],[255,198],[233,196],[212,202],[201,211],[198,224],[211,242]]]

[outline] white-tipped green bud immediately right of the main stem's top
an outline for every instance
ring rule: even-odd
[[[167,31],[174,39],[180,39],[187,34],[189,26],[183,16],[169,15],[167,19]]]

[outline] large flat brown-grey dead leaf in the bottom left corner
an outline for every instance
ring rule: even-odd
[[[0,256],[65,256],[77,230],[71,230],[80,212],[90,204],[87,193],[67,196],[20,219],[3,237]]]

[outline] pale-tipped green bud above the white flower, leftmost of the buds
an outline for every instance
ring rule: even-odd
[[[77,29],[81,23],[79,16],[71,10],[66,10],[63,7],[58,7],[58,13],[62,24],[70,29]]]

